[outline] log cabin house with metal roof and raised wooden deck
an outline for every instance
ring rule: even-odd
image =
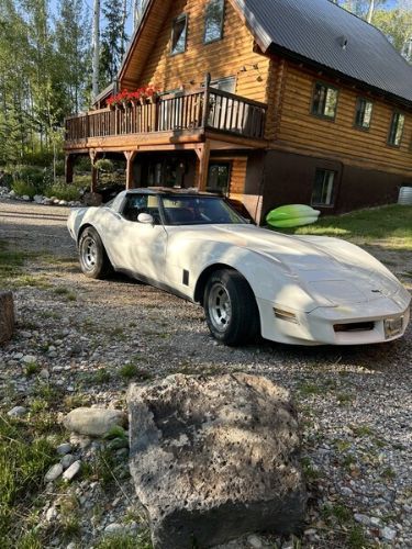
[[[156,100],[108,107],[148,83]],[[65,152],[68,182],[78,155],[121,157],[127,188],[220,191],[257,222],[285,203],[394,202],[412,184],[412,67],[329,0],[148,0]]]

